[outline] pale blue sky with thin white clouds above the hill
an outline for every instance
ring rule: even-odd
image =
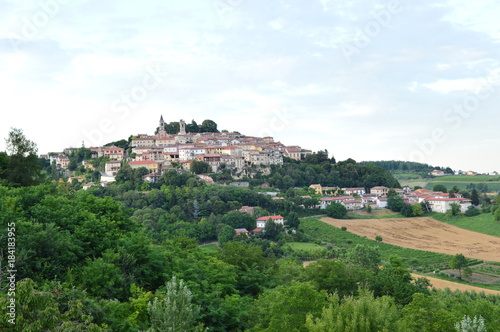
[[[494,0],[0,2],[0,151],[210,119],[220,130],[500,171]]]

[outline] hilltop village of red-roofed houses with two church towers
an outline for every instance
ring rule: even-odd
[[[245,136],[240,133],[187,133],[186,123],[179,122],[179,133],[165,131],[163,116],[155,135],[137,135],[131,141],[129,165],[132,168],[147,168],[151,174],[161,174],[177,163],[189,169],[193,160],[210,165],[212,172],[222,169],[234,174],[255,166],[266,167],[283,164],[283,157],[300,160],[311,150],[299,146],[286,146],[275,142],[272,137]],[[125,151],[119,147],[90,148],[96,157],[108,156],[105,173],[114,176],[120,170]],[[150,176],[154,180],[155,176]]]

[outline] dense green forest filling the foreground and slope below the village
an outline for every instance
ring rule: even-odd
[[[34,151],[0,154],[0,327],[9,331],[500,330],[500,297],[433,290],[375,247],[331,243],[314,257],[287,247],[319,241],[300,218],[318,214],[307,209],[318,196],[303,187],[398,187],[378,166],[321,153],[288,161],[256,179],[286,189],[273,200],[176,170],[150,184],[127,167],[115,183],[81,190],[53,180]],[[19,165],[33,170],[28,179],[10,174]],[[284,226],[235,234],[271,214]],[[214,250],[201,245],[210,241]]]

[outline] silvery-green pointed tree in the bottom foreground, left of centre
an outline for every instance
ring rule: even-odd
[[[153,302],[148,303],[151,321],[148,332],[202,331],[202,327],[196,325],[200,308],[192,303],[193,295],[184,281],[177,281],[174,275],[166,288],[162,299],[155,297]]]

